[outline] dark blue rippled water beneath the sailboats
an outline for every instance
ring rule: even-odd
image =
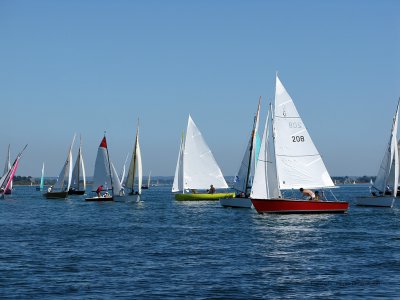
[[[345,215],[259,215],[219,202],[0,200],[1,299],[398,297],[400,205]]]

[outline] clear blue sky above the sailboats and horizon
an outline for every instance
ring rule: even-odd
[[[173,175],[189,113],[224,175],[275,74],[331,176],[376,175],[400,97],[400,1],[0,0],[0,167],[57,176],[106,131],[120,170],[137,120],[143,171]],[[263,127],[261,125],[260,127]],[[78,138],[79,140],[79,138]],[[77,143],[74,156],[77,153]]]

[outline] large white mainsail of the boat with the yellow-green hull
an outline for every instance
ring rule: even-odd
[[[189,115],[186,131],[183,176],[185,189],[228,188],[210,148]]]

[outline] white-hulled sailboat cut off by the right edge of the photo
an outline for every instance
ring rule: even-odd
[[[397,146],[399,105],[400,99],[397,102],[396,112],[393,116],[389,142],[386,146],[378,175],[371,187],[372,195],[357,198],[356,204],[359,206],[393,207],[399,185],[399,151]],[[391,191],[388,190],[390,186],[392,188]]]

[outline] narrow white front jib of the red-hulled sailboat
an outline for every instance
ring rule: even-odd
[[[261,141],[260,153],[254,174],[251,198],[271,199],[281,197],[279,180],[276,170],[275,153],[273,152],[273,136],[270,127],[270,113],[268,111],[264,133]]]

